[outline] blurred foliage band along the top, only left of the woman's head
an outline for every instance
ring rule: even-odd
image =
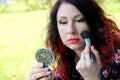
[[[11,0],[11,3],[0,3],[0,12],[23,12],[48,9],[54,0]]]

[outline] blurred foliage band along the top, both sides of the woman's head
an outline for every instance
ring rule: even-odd
[[[49,9],[56,0],[11,0],[0,3],[0,12],[23,12]],[[120,12],[120,0],[96,0],[107,12]]]

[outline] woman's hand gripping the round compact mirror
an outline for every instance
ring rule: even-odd
[[[50,71],[48,68],[43,68],[43,63],[35,64],[27,74],[27,80],[48,80]]]

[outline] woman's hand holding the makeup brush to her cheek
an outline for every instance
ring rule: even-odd
[[[80,60],[76,65],[76,69],[85,80],[100,80],[99,73],[101,64],[99,53],[94,46],[91,47],[91,50],[95,56],[95,63],[92,63],[90,59],[90,46],[86,45],[83,52],[81,52]]]

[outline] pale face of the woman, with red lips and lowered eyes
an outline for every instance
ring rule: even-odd
[[[70,49],[83,50],[85,42],[80,33],[89,30],[82,13],[72,4],[62,3],[57,13],[57,27],[61,40]]]

